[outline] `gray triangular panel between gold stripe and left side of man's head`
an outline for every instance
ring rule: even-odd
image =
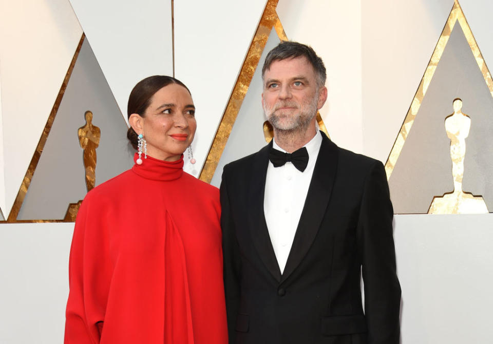
[[[211,184],[219,187],[221,184],[222,169],[224,165],[250,155],[266,145],[263,136],[263,122],[266,117],[263,114],[261,94],[263,91],[262,66],[266,56],[280,40],[274,29],[271,30],[269,39],[260,56],[259,63],[253,74],[252,82],[247,94],[243,99],[238,116],[231,129],[230,137],[227,140],[221,159],[217,164]]]

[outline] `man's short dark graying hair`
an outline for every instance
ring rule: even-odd
[[[266,61],[262,67],[262,80],[266,70],[269,70],[274,61],[298,58],[305,56],[308,62],[312,65],[318,79],[318,86],[324,86],[327,79],[327,71],[324,62],[315,53],[312,47],[298,42],[283,41],[267,54]]]

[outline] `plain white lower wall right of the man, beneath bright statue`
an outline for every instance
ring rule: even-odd
[[[493,337],[493,214],[396,215],[403,344]]]

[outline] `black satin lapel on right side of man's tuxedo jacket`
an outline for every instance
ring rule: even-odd
[[[285,281],[293,273],[308,253],[329,203],[337,170],[337,146],[325,134],[322,135],[322,138],[312,180],[308,188],[307,199],[299,218],[281,282]]]

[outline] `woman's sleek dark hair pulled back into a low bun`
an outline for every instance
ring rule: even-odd
[[[178,84],[186,88],[188,93],[190,90],[181,81],[167,75],[153,75],[145,78],[137,83],[130,92],[127,105],[127,118],[130,118],[132,113],[137,113],[141,117],[145,116],[145,110],[150,104],[153,95],[164,86],[169,84]],[[190,93],[192,94],[192,93]],[[137,149],[138,135],[134,128],[129,127],[127,130],[127,139],[132,144],[132,147]]]

